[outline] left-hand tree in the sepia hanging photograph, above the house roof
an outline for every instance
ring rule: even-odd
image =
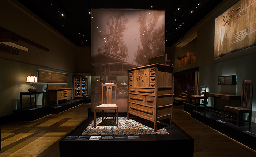
[[[124,11],[114,11],[112,15],[106,19],[108,31],[101,34],[98,33],[101,41],[104,42],[103,49],[105,52],[119,55],[124,61],[128,57],[128,47],[123,41],[123,33],[127,30],[128,18],[125,18]]]

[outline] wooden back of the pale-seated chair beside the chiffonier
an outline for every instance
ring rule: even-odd
[[[103,87],[106,86],[106,98],[107,98],[107,104],[112,104],[112,95],[113,95],[113,92],[112,92],[112,88],[115,87],[115,104],[116,104],[116,92],[117,92],[117,84],[114,84],[114,83],[105,83],[105,84],[101,84],[101,92],[102,92],[102,104],[104,103],[104,89]]]

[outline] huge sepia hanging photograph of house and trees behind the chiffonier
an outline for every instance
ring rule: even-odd
[[[165,11],[91,9],[91,101],[101,104],[101,83],[117,83],[119,112],[127,112],[128,69],[165,54]]]

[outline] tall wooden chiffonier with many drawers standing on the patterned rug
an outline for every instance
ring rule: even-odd
[[[152,64],[129,69],[128,111],[129,114],[154,122],[170,118],[173,108],[173,66]]]

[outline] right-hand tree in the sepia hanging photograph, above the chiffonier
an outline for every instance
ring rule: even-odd
[[[165,53],[164,24],[157,28],[161,16],[163,16],[161,11],[153,11],[151,14],[144,11],[138,16],[140,44],[134,53],[133,63],[140,66],[147,65],[148,58]]]

